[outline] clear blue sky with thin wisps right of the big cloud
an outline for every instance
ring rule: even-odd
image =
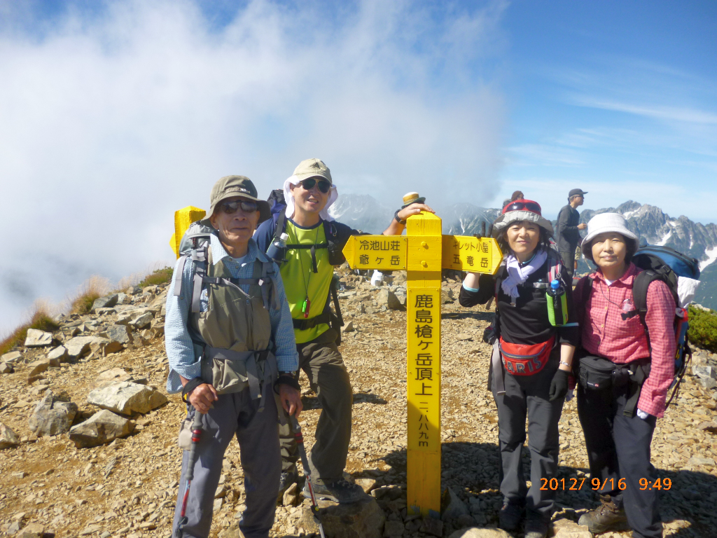
[[[550,190],[574,186],[594,209],[635,199],[715,220],[717,3],[516,1],[502,27],[503,194],[539,192],[555,212]]]

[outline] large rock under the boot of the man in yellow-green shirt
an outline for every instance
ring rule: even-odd
[[[331,501],[318,501],[321,523],[326,536],[331,538],[382,538],[386,514],[376,499],[366,496],[366,500],[351,504],[337,504]],[[307,501],[301,506],[301,516],[297,523],[308,532],[318,534],[318,525],[311,514],[311,504]]]

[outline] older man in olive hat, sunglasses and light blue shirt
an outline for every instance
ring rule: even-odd
[[[212,230],[209,245],[177,260],[167,293],[167,391],[181,392],[188,402],[185,425],[201,413],[202,429],[180,530],[184,451],[174,535],[209,536],[224,451],[236,435],[247,494],[239,529],[244,537],[266,538],[281,472],[275,393],[290,415],[302,407],[291,313],[279,268],[252,240],[260,218],[270,214],[252,181],[223,177],[214,184],[210,202],[209,218],[201,221]]]

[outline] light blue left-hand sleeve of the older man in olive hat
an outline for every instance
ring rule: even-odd
[[[177,260],[174,270],[177,270]],[[201,362],[194,357],[194,344],[187,330],[189,305],[191,303],[191,272],[194,267],[191,258],[186,260],[181,278],[181,294],[174,295],[174,278],[167,291],[166,316],[164,318],[164,347],[169,362],[167,392],[180,392],[181,380],[194,379],[201,375]]]

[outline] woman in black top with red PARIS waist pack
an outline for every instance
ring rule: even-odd
[[[509,203],[493,223],[493,237],[506,253],[503,264],[495,276],[468,273],[458,297],[461,306],[485,304],[496,297],[495,322],[484,340],[493,344],[490,387],[498,407],[503,494],[498,517],[500,528],[507,531],[516,531],[524,518],[526,538],[545,538],[549,531],[556,492],[541,488],[541,479],[550,480],[558,472],[558,422],[578,339],[571,279],[550,247],[552,235],[553,226],[539,204]],[[553,281],[564,297],[559,326],[551,321],[546,295]],[[526,414],[530,489],[521,461]]]

